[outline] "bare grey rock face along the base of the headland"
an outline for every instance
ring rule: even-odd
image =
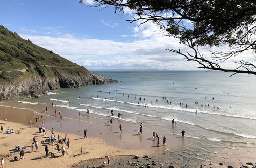
[[[47,94],[48,90],[60,88],[77,88],[83,85],[115,83],[117,80],[91,73],[88,77],[61,75],[59,77],[41,78],[32,76],[18,83],[0,85],[0,100],[37,97]]]

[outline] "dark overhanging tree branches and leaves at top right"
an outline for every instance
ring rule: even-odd
[[[239,57],[244,52],[256,52],[255,14],[253,0],[86,0],[79,3],[91,7],[114,6],[115,12],[124,13],[125,8],[134,10],[130,22],[148,21],[160,26],[163,33],[180,39],[193,52],[168,49],[184,56],[188,61],[196,61],[199,68],[226,72],[256,74],[252,58],[237,61],[237,68],[225,69],[220,63]],[[211,51],[211,57],[200,54],[200,47],[228,45],[228,51]]]

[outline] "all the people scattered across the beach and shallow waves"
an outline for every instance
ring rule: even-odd
[[[124,95],[124,94],[123,94]],[[115,96],[116,97],[116,96]],[[127,97],[129,98],[130,97],[130,95],[127,95]],[[135,99],[136,99],[136,97],[134,97]],[[80,97],[78,98],[78,99],[80,99]],[[139,98],[139,101],[141,101],[142,99],[144,99],[145,100],[145,98],[142,98],[142,97],[140,97]],[[205,97],[205,99],[206,99],[206,97]],[[212,98],[212,99],[214,99],[214,98]],[[162,100],[164,100],[164,101],[166,101],[168,104],[172,104],[172,102],[171,101],[169,101],[165,96],[163,96],[162,97]],[[69,99],[68,99],[68,101],[69,101]],[[158,102],[158,99],[156,99],[156,102]],[[138,102],[138,104],[139,104],[140,102]],[[68,103],[68,105],[70,104],[70,101],[69,101],[69,103]],[[151,104],[153,104],[153,102],[151,101]],[[198,104],[198,101],[196,101],[195,102],[195,104]],[[52,106],[56,106],[56,103],[51,103],[51,105]],[[180,106],[182,106],[183,105],[183,103],[182,102],[180,102]],[[203,104],[201,104],[201,106],[203,106]],[[204,106],[206,106],[206,105],[204,105]],[[207,105],[208,107],[209,107],[209,104]],[[186,108],[188,107],[188,105],[186,104]],[[231,106],[230,106],[231,107]],[[213,108],[215,108],[215,106],[213,105]],[[219,107],[217,107],[217,109],[219,109]],[[47,113],[48,112],[48,108],[47,107],[45,107],[45,109],[44,109],[44,111],[45,111],[45,113]],[[62,114],[61,114],[61,111],[59,110],[59,111],[57,111],[57,109],[55,109],[54,110],[54,113],[55,113],[55,116],[59,116],[59,119],[60,119],[60,122],[62,122],[62,118],[63,118],[63,116],[62,116]],[[87,113],[87,115],[89,115],[89,109],[87,109],[87,111],[86,111],[86,113]],[[197,113],[197,111],[196,111],[196,113]],[[34,111],[34,114],[35,114],[35,111]],[[109,116],[111,117],[111,116],[114,116],[114,110],[112,109],[111,110],[111,114],[110,114],[110,111],[108,111],[108,114],[109,114]],[[44,117],[44,115],[41,115],[41,116],[36,116],[35,117],[35,123],[38,123],[39,122],[39,120],[42,120],[42,118]],[[79,117],[81,117],[81,111],[79,111]],[[117,114],[117,117],[118,118],[122,118],[123,117],[123,114],[121,114],[121,113],[118,113]],[[7,124],[7,119],[4,119],[4,122],[5,122],[5,124]],[[112,125],[113,124],[113,121],[112,121],[112,118],[110,119],[110,122],[109,122],[109,120],[107,121],[107,123],[108,123],[108,125],[109,125],[109,123],[110,123],[110,125]],[[33,122],[31,121],[31,120],[29,120],[29,122],[28,122],[28,124],[29,124],[29,127],[31,128],[32,127],[32,125],[33,125]],[[136,124],[136,123],[135,123]],[[176,121],[174,121],[174,119],[172,120],[172,125],[176,125],[177,124],[177,122]],[[122,133],[122,131],[123,131],[123,126],[122,126],[122,124],[120,124],[119,125],[119,132],[120,133]],[[4,129],[4,126],[3,125],[1,125],[1,130],[0,130],[0,133],[2,133],[2,132],[4,132],[5,131],[5,129]],[[84,129],[83,130],[83,136],[84,136],[84,138],[87,138],[87,132],[88,132],[88,129]],[[138,132],[137,132],[137,135],[138,136],[140,136],[140,135],[142,135],[142,132],[143,132],[143,123],[141,122],[140,123],[140,126],[139,126],[139,129],[138,129]],[[15,132],[13,131],[13,129],[11,129],[11,130],[9,130],[9,129],[7,129],[6,131],[5,131],[5,133],[7,133],[7,134],[14,134]],[[21,133],[20,131],[17,131],[16,133]],[[44,136],[46,136],[46,134],[47,134],[47,131],[46,131],[46,128],[45,128],[45,125],[44,125],[44,121],[42,120],[41,121],[41,124],[40,124],[40,126],[39,126],[39,132],[38,132],[38,134],[42,134],[42,136],[44,137]],[[70,141],[70,139],[67,137],[67,133],[65,134],[65,137],[61,137],[60,135],[58,135],[57,137],[55,136],[55,134],[54,134],[54,128],[52,128],[51,129],[51,132],[49,132],[49,134],[50,134],[50,138],[47,138],[47,139],[45,139],[44,141],[42,140],[41,141],[41,143],[48,143],[46,146],[45,146],[45,157],[46,158],[48,158],[48,157],[51,157],[51,158],[53,158],[53,157],[55,157],[55,155],[56,154],[58,154],[59,152],[61,152],[61,156],[65,156],[65,152],[66,152],[66,147],[67,148],[70,148],[70,144],[71,144],[71,141]],[[182,137],[184,137],[185,136],[185,131],[184,130],[182,130],[181,131],[181,136]],[[159,147],[160,146],[160,136],[158,135],[158,133],[156,133],[156,132],[153,132],[152,133],[152,139],[155,141],[157,141],[157,145],[156,145],[156,147]],[[165,136],[163,136],[162,137],[162,141],[163,141],[163,146],[165,146],[165,144],[166,144],[166,141],[167,141],[167,138],[165,137]],[[48,148],[48,146],[49,145],[56,145],[56,149],[57,149],[57,153],[54,153],[54,152],[51,152],[51,151],[49,151],[49,148]],[[33,137],[33,139],[32,139],[32,144],[31,144],[31,151],[33,152],[34,150],[34,147],[35,147],[35,152],[36,151],[39,151],[39,142],[37,141],[37,138],[36,138],[36,136],[34,136]],[[16,146],[15,147],[15,151],[16,152],[19,152],[19,160],[23,160],[25,157],[24,157],[24,154],[25,154],[25,151],[24,151],[24,147],[22,147],[22,146]],[[80,155],[82,155],[83,154],[83,147],[81,147],[81,149],[80,149]],[[105,158],[107,159],[107,162],[108,162],[108,165],[109,165],[109,162],[110,162],[110,157],[108,156],[108,155],[106,155],[105,156]],[[15,157],[14,158],[15,160],[18,160],[18,158],[17,157]],[[1,165],[2,165],[2,167],[4,167],[4,160],[3,160],[3,158],[1,158]]]

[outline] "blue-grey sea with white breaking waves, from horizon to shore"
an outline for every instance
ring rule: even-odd
[[[256,77],[253,75],[230,77],[231,73],[216,71],[93,73],[119,82],[47,91],[47,95],[37,99],[2,101],[1,105],[42,111],[56,103],[55,108],[66,109],[65,116],[70,118],[78,111],[87,115],[89,109],[89,115],[104,121],[113,118],[138,127],[143,123],[149,132],[154,130],[159,136],[165,135],[167,142],[169,138],[182,141],[184,130],[188,141],[182,141],[175,150],[190,157],[256,146]],[[118,113],[123,117],[118,118]],[[176,124],[172,124],[173,119]]]

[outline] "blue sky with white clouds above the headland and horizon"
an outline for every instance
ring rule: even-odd
[[[92,1],[92,0],[89,0]],[[0,0],[0,25],[89,70],[195,70],[166,49],[188,49],[152,23],[130,23],[133,11],[92,8],[78,0]],[[208,48],[202,48],[210,55]],[[225,63],[232,66],[232,62]]]

